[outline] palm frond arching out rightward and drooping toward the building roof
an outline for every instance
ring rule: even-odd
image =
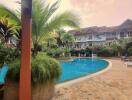
[[[54,30],[60,30],[61,28],[66,26],[72,28],[79,28],[79,18],[71,12],[64,12],[52,18],[43,28],[44,31],[40,35],[39,41],[41,41],[41,38],[44,36],[45,33],[52,32]]]

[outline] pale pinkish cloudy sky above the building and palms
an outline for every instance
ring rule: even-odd
[[[17,9],[15,1],[0,0],[0,3]],[[80,18],[81,27],[116,26],[132,19],[132,0],[61,0],[58,13],[63,11],[74,12]]]

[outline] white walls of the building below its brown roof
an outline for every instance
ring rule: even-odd
[[[122,32],[122,33],[121,33]],[[131,32],[132,33],[132,32]],[[124,34],[124,37],[121,37]],[[81,34],[75,35],[76,43],[79,44],[80,48],[86,48],[91,45],[105,45],[110,44],[113,41],[121,38],[129,38],[128,32],[116,31],[116,32],[103,32],[103,33],[92,33],[92,34]]]

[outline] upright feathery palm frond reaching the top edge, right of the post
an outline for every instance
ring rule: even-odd
[[[40,0],[33,0],[33,35],[38,37],[44,32],[45,24],[48,22],[52,14],[58,9],[58,1],[52,5],[46,5]]]

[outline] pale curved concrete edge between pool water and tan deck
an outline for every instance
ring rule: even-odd
[[[97,75],[100,75],[100,74],[108,71],[112,67],[112,62],[109,61],[109,60],[106,60],[106,59],[102,59],[102,60],[105,60],[105,61],[107,61],[109,63],[108,66],[107,66],[107,68],[105,68],[105,69],[103,69],[103,70],[101,70],[99,72],[93,73],[91,75],[86,75],[86,76],[83,76],[83,77],[80,77],[80,78],[77,78],[77,79],[73,79],[73,80],[70,80],[70,81],[67,81],[67,82],[64,82],[64,83],[56,84],[55,88],[61,88],[63,86],[70,86],[70,85],[73,85],[73,84],[78,83],[80,81],[86,80],[88,78],[95,77]]]

